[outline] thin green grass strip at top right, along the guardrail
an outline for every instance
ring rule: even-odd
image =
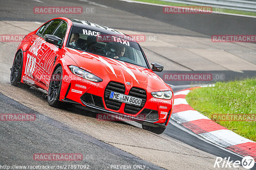
[[[166,1],[158,1],[158,0],[135,0],[135,1],[147,2],[147,3],[152,3],[152,4],[162,4],[162,5],[167,5],[167,6],[198,6],[198,5],[188,5],[188,4],[172,3],[172,2],[166,2]],[[219,10],[219,8],[212,8],[212,11],[220,11],[220,10]],[[251,12],[251,11],[221,9],[221,12],[256,16],[256,12]]]

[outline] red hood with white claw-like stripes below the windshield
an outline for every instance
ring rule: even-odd
[[[123,81],[124,84],[127,81],[131,82],[132,86],[146,85],[159,91],[170,90],[169,86],[148,68],[71,48],[66,48],[66,54],[76,62],[78,67],[100,78],[108,76],[110,80]]]

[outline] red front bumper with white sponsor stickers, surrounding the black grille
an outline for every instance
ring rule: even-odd
[[[119,109],[109,109],[105,101],[106,87],[111,81],[109,77],[101,76],[103,81],[95,83],[72,74],[68,66],[64,67],[67,68],[63,69],[63,81],[60,92],[61,101],[72,103],[97,113],[107,113],[123,117],[124,119],[138,121],[141,124],[150,123],[163,127],[167,126],[172,114],[173,97],[171,100],[156,99],[148,93],[148,91],[153,91],[149,88],[145,89],[147,96],[143,107],[135,114],[125,113],[125,103],[122,103]],[[125,88],[124,94],[128,95],[132,87],[125,86]]]

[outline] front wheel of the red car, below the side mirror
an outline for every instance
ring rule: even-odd
[[[62,108],[64,102],[60,101],[60,89],[62,84],[62,68],[58,67],[52,74],[47,100],[50,106],[55,108]]]

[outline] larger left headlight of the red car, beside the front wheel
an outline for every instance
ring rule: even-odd
[[[76,66],[69,66],[69,69],[71,72],[79,77],[83,77],[84,79],[94,81],[94,82],[101,82],[102,79],[97,77],[96,75],[93,75],[92,73],[89,73],[79,67]]]

